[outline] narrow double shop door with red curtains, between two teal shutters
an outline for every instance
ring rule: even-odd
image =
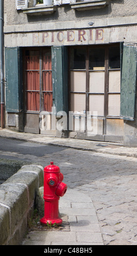
[[[42,133],[50,126],[51,107],[53,106],[53,86],[50,48],[25,48],[24,65],[24,131]],[[40,115],[44,111],[49,114]],[[41,120],[44,120],[42,129]],[[41,126],[40,126],[41,123]]]

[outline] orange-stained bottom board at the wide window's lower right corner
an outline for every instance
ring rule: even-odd
[[[123,136],[123,119],[107,118],[107,135]]]

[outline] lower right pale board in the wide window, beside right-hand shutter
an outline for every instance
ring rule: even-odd
[[[120,94],[108,95],[108,115],[120,115]]]

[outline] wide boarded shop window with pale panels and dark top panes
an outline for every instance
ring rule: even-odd
[[[69,56],[70,137],[122,142],[120,45],[71,47]]]

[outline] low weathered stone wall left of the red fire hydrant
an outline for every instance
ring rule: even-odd
[[[0,185],[0,245],[21,244],[41,186],[43,167],[32,164]]]

